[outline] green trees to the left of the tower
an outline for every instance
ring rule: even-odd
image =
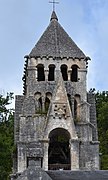
[[[13,110],[8,105],[13,99],[13,93],[6,97],[0,95],[0,179],[8,180],[12,171],[13,152]]]

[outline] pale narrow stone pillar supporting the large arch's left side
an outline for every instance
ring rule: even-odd
[[[49,139],[43,140],[44,143],[44,157],[43,157],[43,169],[45,171],[48,170],[48,147],[49,147]]]

